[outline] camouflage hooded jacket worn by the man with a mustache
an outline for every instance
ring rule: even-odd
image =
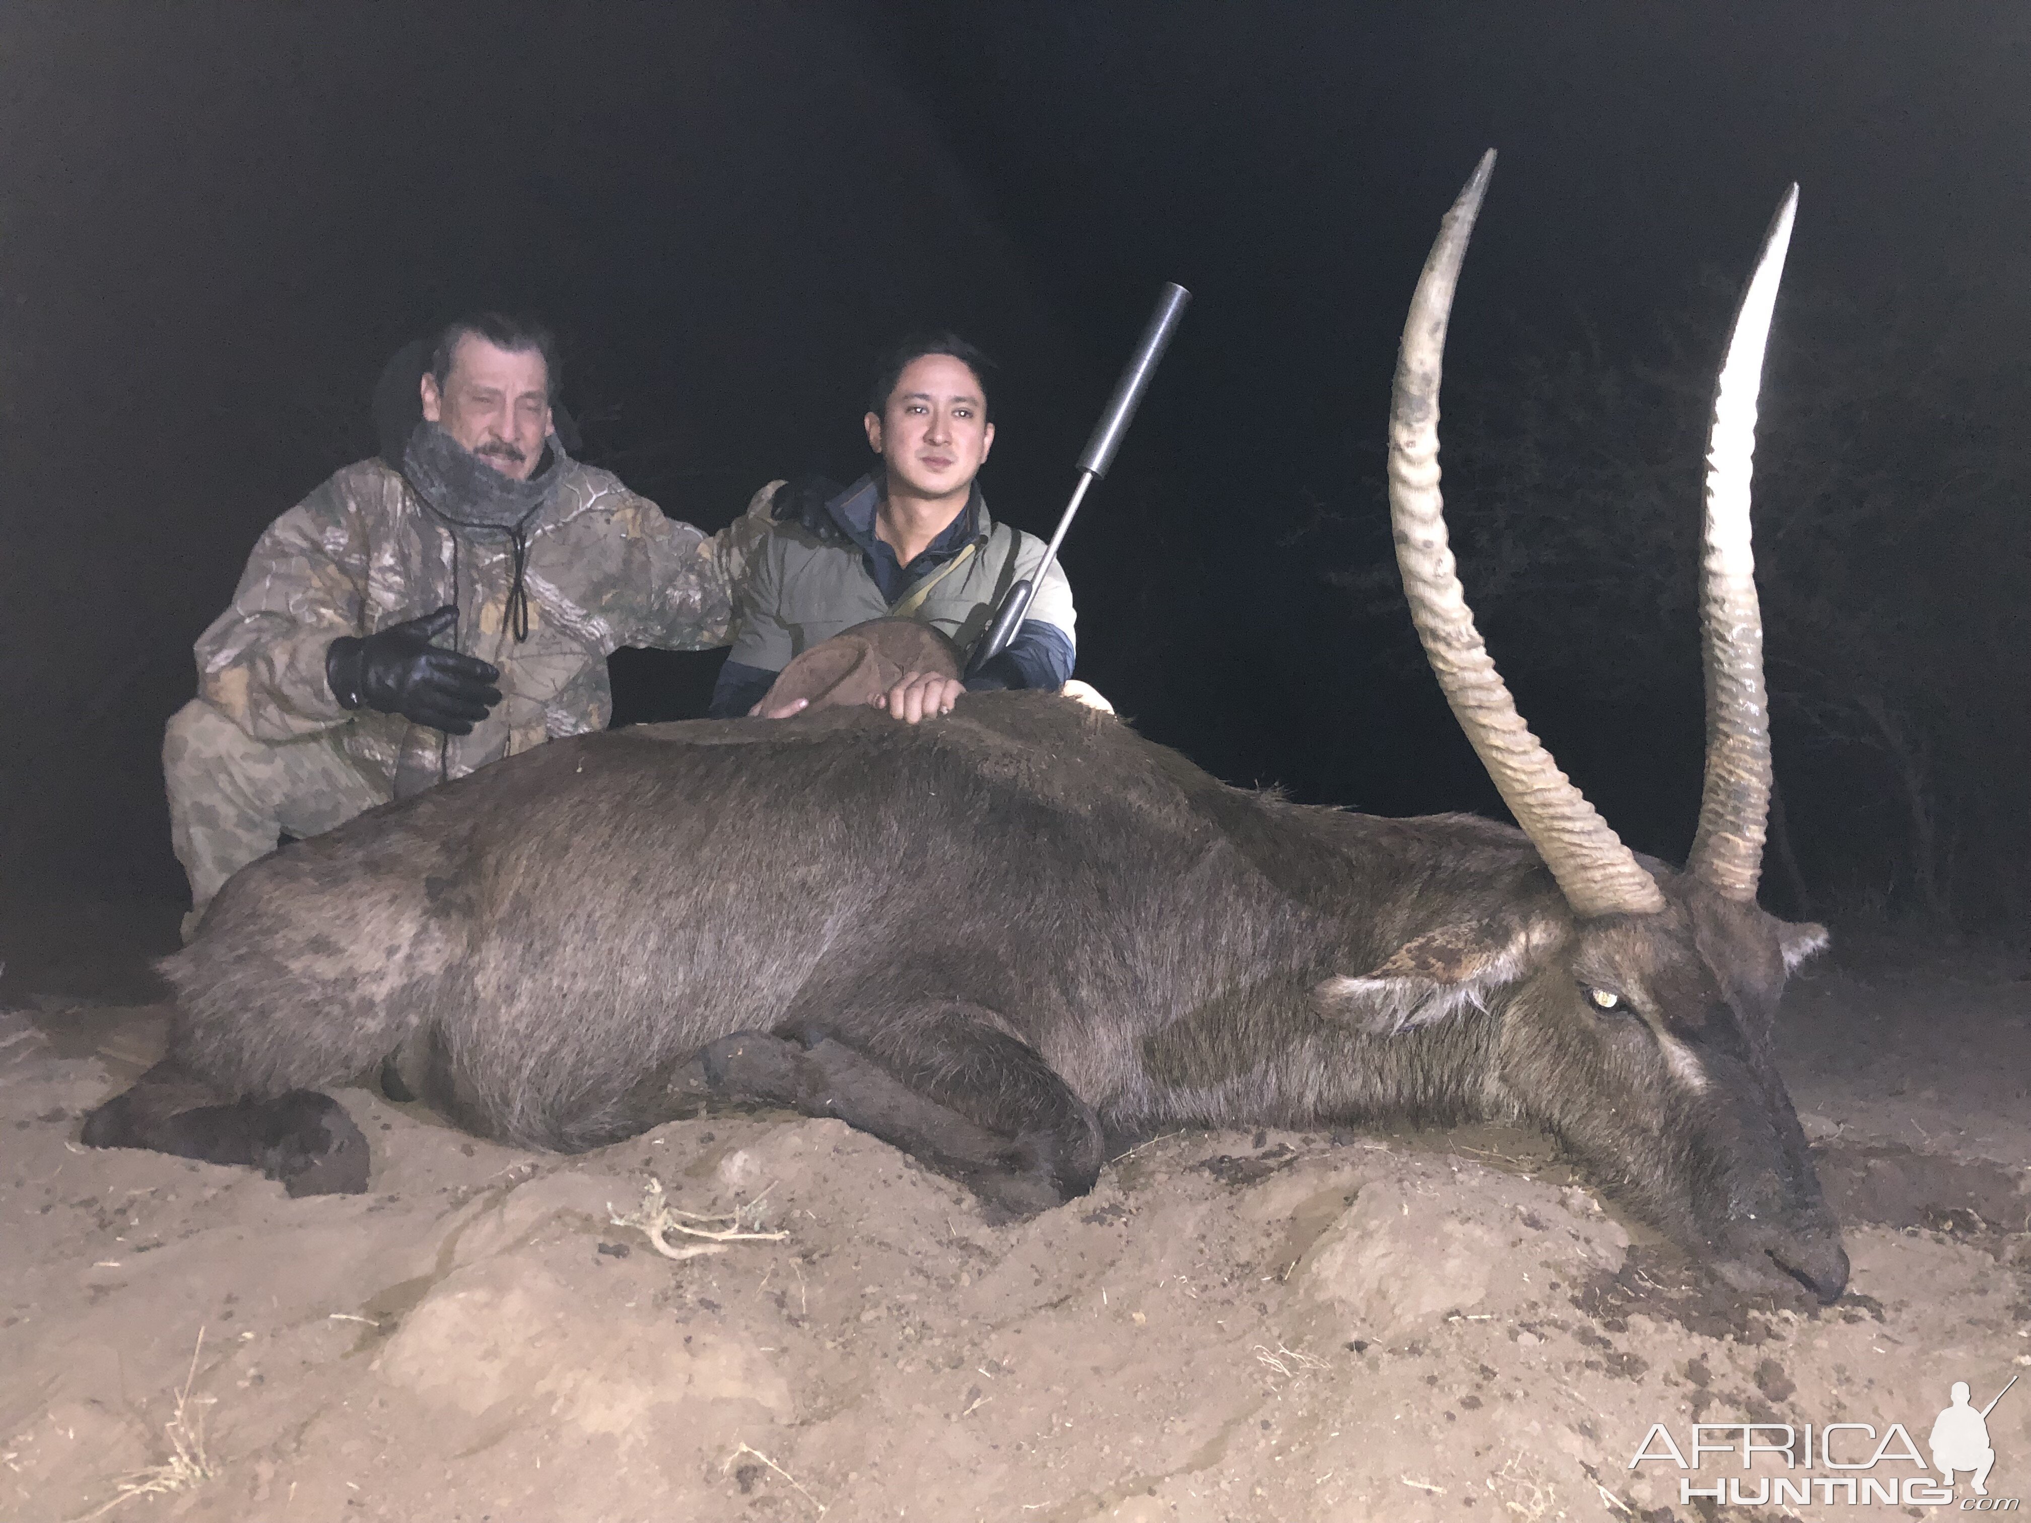
[[[197,640],[199,694],[248,735],[319,731],[396,796],[546,739],[603,729],[619,646],[707,650],[731,638],[747,550],[768,504],[707,538],[611,473],[565,459],[528,528],[528,638],[506,625],[514,579],[500,532],[453,530],[380,459],[347,465],[260,536],[232,607]],[[502,701],[471,735],[341,709],[325,680],[339,636],[459,607],[457,648],[494,662]],[[445,642],[441,642],[445,644]]]

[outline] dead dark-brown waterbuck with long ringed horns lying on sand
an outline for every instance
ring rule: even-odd
[[[1755,904],[1749,461],[1795,187],[1714,406],[1706,792],[1674,871],[1523,725],[1446,548],[1440,357],[1491,169],[1412,301],[1389,504],[1418,634],[1521,829],[1235,790],[1050,694],[556,741],[234,877],[162,963],[171,1056],[85,1141],[359,1190],[366,1141],[313,1090],[386,1060],[512,1143],[615,1141],[711,1086],[1034,1210],[1154,1127],[1527,1121],[1730,1283],[1840,1296],[1769,1040],[1826,936]]]

